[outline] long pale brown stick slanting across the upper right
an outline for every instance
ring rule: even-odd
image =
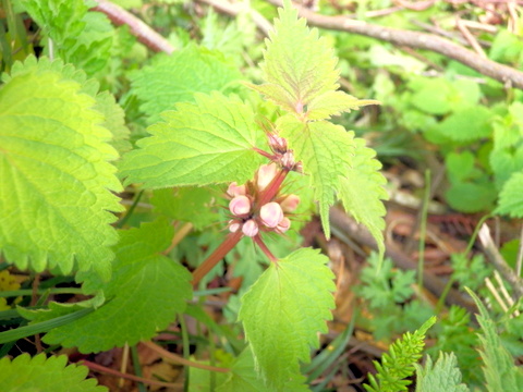
[[[267,0],[281,7],[280,0]],[[457,60],[473,70],[509,86],[523,89],[523,72],[511,66],[483,59],[472,50],[465,49],[448,39],[431,34],[382,27],[345,16],[325,16],[304,8],[297,8],[300,16],[305,17],[311,26],[364,35],[398,46],[430,50]]]

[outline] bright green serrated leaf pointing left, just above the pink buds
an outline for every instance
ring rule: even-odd
[[[149,126],[151,137],[123,157],[126,183],[159,188],[245,183],[262,162],[255,146],[258,128],[252,109],[214,93],[195,95],[196,103],[178,103],[162,114],[166,122]]]

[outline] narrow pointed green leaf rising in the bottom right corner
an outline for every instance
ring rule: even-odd
[[[496,324],[479,298],[471,290],[466,289],[466,292],[479,309],[477,316],[482,327],[482,333],[478,335],[482,343],[479,353],[485,364],[483,372],[487,390],[489,392],[523,390],[522,369],[514,365],[514,359],[503,347]]]

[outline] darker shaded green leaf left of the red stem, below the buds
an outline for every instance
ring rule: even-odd
[[[86,290],[102,289],[110,301],[77,322],[51,330],[44,342],[77,346],[82,353],[100,352],[150,339],[172,322],[192,294],[187,270],[160,254],[172,234],[165,220],[123,231],[113,279],[101,284],[88,277],[84,283]],[[54,307],[35,313],[33,320],[51,318],[57,311],[60,309]]]

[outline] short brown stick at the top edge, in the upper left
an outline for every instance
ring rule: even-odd
[[[127,25],[131,28],[131,33],[136,36],[142,44],[146,45],[154,51],[163,51],[168,54],[171,54],[174,51],[174,47],[169,44],[166,38],[120,5],[113,4],[107,0],[95,1],[98,5],[92,10],[105,13],[117,26],[123,24]]]

